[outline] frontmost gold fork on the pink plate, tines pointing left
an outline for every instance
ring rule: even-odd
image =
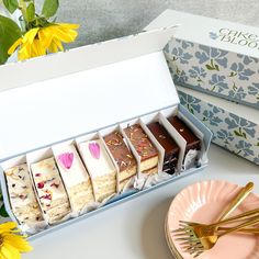
[[[252,226],[255,224],[259,223],[259,217],[256,217],[249,222],[245,222],[238,226],[232,227],[228,230],[225,230],[224,233],[221,234],[213,234],[210,236],[201,236],[201,237],[189,237],[185,240],[185,246],[182,247],[184,249],[185,252],[189,252],[190,255],[193,255],[193,257],[199,257],[202,252],[204,252],[205,250],[212,249],[215,244],[217,243],[218,238],[234,233],[234,232],[238,232],[247,226]]]

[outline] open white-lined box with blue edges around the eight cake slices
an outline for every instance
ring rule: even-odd
[[[176,26],[149,31],[0,67],[0,180],[5,209],[13,221],[16,218],[4,170],[26,159],[29,164],[44,159],[49,156],[44,150],[54,145],[77,144],[135,122],[145,127],[159,121],[166,126],[166,117],[172,114],[181,116],[202,138],[199,166],[181,170],[178,165],[179,172],[166,180],[150,188],[125,191],[103,206],[49,226],[29,236],[30,239],[198,172],[207,165],[212,134],[179,104],[162,52],[174,30]],[[185,145],[181,137],[177,143]]]

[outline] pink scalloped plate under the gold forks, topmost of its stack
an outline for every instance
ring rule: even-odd
[[[174,246],[182,258],[193,258],[181,250],[171,230],[179,227],[179,221],[212,223],[235,198],[240,187],[226,181],[204,181],[182,190],[172,201],[166,222],[168,243]],[[259,207],[259,196],[251,193],[232,214]],[[172,247],[171,247],[172,248]],[[217,244],[203,252],[199,259],[258,259],[259,236],[232,234],[218,239]]]

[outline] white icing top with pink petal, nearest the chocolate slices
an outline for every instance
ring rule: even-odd
[[[89,144],[99,146],[100,157],[97,156],[95,153],[90,151]],[[82,154],[82,158],[88,168],[88,171],[92,178],[102,177],[105,174],[114,173],[116,171],[105,147],[100,139],[81,143],[79,144],[79,149]]]

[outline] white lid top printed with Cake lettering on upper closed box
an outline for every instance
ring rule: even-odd
[[[258,27],[167,9],[145,30],[167,24],[181,24],[176,38],[259,58]]]

